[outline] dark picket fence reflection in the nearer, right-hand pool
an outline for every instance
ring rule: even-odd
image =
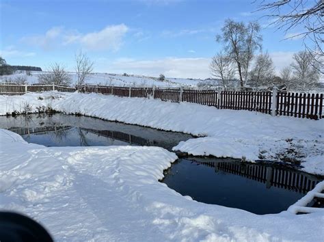
[[[260,183],[265,183],[267,188],[273,186],[306,193],[314,189],[315,185],[320,182],[320,179],[308,174],[266,165],[231,162],[202,162],[193,159],[188,159],[188,161],[213,167],[215,168],[215,172],[223,171],[257,180]]]

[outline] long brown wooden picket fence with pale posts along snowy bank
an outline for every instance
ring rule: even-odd
[[[75,88],[59,85],[8,85],[0,83],[0,94],[19,95],[26,92],[75,92]],[[296,92],[228,92],[215,89],[190,88],[130,88],[103,85],[83,85],[81,92],[96,92],[116,96],[156,98],[174,103],[187,102],[217,109],[258,111],[273,116],[293,116],[318,120],[323,116],[323,94]]]

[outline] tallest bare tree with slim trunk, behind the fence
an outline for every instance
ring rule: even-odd
[[[244,71],[248,70],[253,53],[259,48],[262,40],[259,31],[258,23],[250,22],[245,26],[243,22],[228,19],[221,28],[221,35],[216,36],[216,41],[225,44],[226,53],[237,64],[241,87],[243,87]]]

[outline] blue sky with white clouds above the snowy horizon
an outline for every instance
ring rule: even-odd
[[[94,71],[157,77],[208,78],[215,41],[227,18],[259,21],[262,50],[280,71],[303,40],[269,25],[253,0],[0,1],[0,55],[11,65],[55,62],[73,71],[75,53],[94,61]]]

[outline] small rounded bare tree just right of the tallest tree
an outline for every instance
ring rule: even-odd
[[[274,77],[274,67],[269,53],[260,53],[256,57],[256,62],[249,72],[250,84],[255,87],[260,85],[269,85]],[[271,83],[272,84],[272,83]]]

